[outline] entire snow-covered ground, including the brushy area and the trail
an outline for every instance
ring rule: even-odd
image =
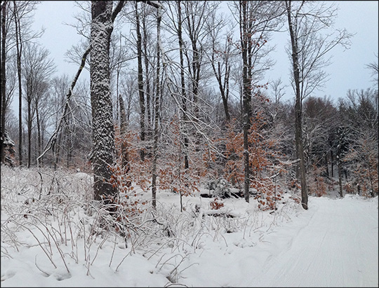
[[[196,193],[180,212],[163,191],[125,242],[89,193],[85,173],[1,167],[1,287],[378,287],[378,197],[311,196],[305,211],[287,193],[270,213]]]

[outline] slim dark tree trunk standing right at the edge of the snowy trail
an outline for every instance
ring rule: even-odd
[[[307,183],[305,179],[305,160],[304,160],[304,149],[302,146],[302,99],[300,94],[300,71],[298,63],[298,43],[295,35],[295,30],[293,28],[292,15],[291,15],[291,1],[286,1],[287,16],[288,16],[288,29],[291,36],[291,46],[292,46],[292,64],[293,64],[293,79],[295,81],[295,149],[296,157],[300,159],[298,166],[298,177],[300,177],[301,185],[301,204],[302,207],[308,209],[308,194],[307,194]]]

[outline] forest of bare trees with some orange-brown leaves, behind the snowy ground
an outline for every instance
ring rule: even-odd
[[[217,179],[267,210],[288,189],[305,210],[333,189],[378,195],[378,56],[362,63],[371,88],[314,97],[331,50],[352,37],[323,34],[334,4],[227,1],[225,14],[221,1],[78,1],[76,75],[58,74],[30,29],[40,5],[1,1],[1,165],[93,173],[107,203],[133,182],[152,207],[160,190],[182,200]],[[279,31],[288,101],[265,78]]]

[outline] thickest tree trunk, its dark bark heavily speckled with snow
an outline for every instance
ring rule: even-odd
[[[112,1],[92,1],[91,22],[91,107],[92,165],[95,200],[115,195],[110,184],[114,161],[114,125],[109,80],[109,39],[113,29]]]

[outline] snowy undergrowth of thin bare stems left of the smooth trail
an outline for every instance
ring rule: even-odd
[[[88,279],[98,283],[112,270],[124,275],[123,281],[128,275],[126,286],[144,286],[144,279],[152,278],[160,287],[180,284],[203,253],[264,244],[274,227],[301,213],[289,195],[270,212],[259,210],[252,198],[251,203],[225,199],[224,207],[211,210],[213,199],[200,193],[183,198],[180,212],[180,196],[167,191],[158,193],[152,210],[151,193],[136,188],[135,199],[147,204],[138,213],[111,217],[91,202],[91,183],[92,177],[81,172],[1,167],[1,281],[25,273],[40,277],[41,287],[44,277],[62,286],[86,286]],[[7,268],[11,261],[13,268]],[[20,266],[14,267],[17,261]],[[138,263],[149,267],[148,273],[138,272]],[[86,281],[70,283],[78,274]],[[109,284],[102,277],[105,286],[117,286],[117,279]]]

